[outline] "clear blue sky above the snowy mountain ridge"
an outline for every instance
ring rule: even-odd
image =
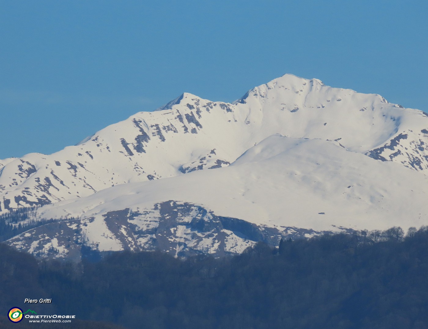
[[[0,159],[292,73],[428,112],[428,1],[0,0]]]

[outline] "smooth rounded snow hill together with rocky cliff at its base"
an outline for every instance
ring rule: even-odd
[[[9,244],[43,256],[56,250],[54,257],[77,257],[82,244],[222,255],[258,240],[277,245],[283,236],[420,226],[427,223],[427,196],[428,177],[400,163],[276,134],[225,168],[122,184],[39,208],[39,218],[80,219],[43,225]]]

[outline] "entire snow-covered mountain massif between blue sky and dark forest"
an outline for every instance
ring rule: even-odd
[[[80,217],[9,241],[55,257],[81,245],[222,254],[407,228],[426,224],[427,143],[422,111],[286,74],[233,104],[184,93],[79,145],[2,160],[0,207]]]

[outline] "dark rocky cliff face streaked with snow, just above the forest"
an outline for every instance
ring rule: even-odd
[[[103,227],[104,233],[94,241],[91,231],[97,227]],[[217,216],[187,202],[167,201],[151,209],[131,211],[127,208],[102,216],[41,225],[8,243],[42,258],[68,260],[80,260],[89,252],[94,256],[100,250],[161,250],[180,258],[201,254],[220,257],[241,253],[259,241],[278,246],[282,237],[308,237],[318,233],[311,229],[256,225]]]

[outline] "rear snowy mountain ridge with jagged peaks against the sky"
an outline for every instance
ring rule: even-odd
[[[118,184],[228,166],[280,133],[333,140],[428,173],[428,118],[379,95],[286,74],[228,104],[184,93],[51,155],[0,160],[0,212],[90,196]]]

